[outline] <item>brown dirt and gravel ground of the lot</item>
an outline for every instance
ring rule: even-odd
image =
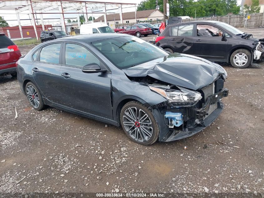
[[[189,138],[151,146],[133,143],[122,128],[51,107],[33,110],[17,80],[0,77],[0,192],[264,196],[264,62],[257,64],[222,64],[229,96],[219,118]]]

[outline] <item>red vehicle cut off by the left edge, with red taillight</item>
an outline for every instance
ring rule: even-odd
[[[17,76],[16,62],[21,57],[21,53],[4,33],[0,33],[0,75],[11,74]]]

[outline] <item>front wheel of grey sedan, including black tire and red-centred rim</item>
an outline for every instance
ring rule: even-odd
[[[151,145],[158,139],[159,127],[152,110],[138,101],[123,106],[120,122],[127,136],[138,144]]]

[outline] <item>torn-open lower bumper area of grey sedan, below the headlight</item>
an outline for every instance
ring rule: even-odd
[[[224,109],[221,102],[223,97],[228,96],[228,89],[223,88],[219,92],[208,96],[202,108],[171,106],[168,102],[152,106],[152,111],[160,120],[159,141],[169,142],[180,140],[195,135],[205,129],[217,119]],[[163,117],[163,122],[161,121]]]

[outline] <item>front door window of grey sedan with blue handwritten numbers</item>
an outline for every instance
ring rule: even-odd
[[[66,65],[83,67],[90,63],[100,65],[100,60],[86,48],[77,44],[66,43],[65,63]]]

